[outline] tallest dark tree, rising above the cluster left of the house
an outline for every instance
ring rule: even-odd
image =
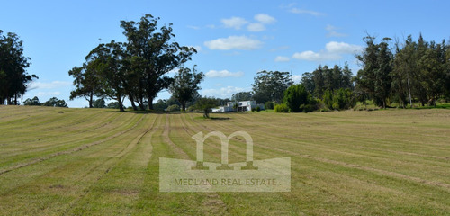
[[[130,68],[135,70],[135,76],[138,77],[132,84],[138,86],[138,90],[130,93],[130,100],[143,102],[147,99],[149,109],[153,108],[153,99],[157,93],[167,88],[172,81],[166,74],[191,60],[192,54],[196,52],[174,41],[172,23],[157,31],[158,20],[146,14],[139,22],[121,21],[123,34],[128,40],[125,47],[133,58]]]

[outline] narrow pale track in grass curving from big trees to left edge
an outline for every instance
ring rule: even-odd
[[[98,145],[98,144],[101,144],[101,143],[103,143],[103,142],[105,142],[105,141],[114,139],[114,138],[119,137],[119,136],[121,136],[122,134],[124,134],[124,133],[126,133],[126,132],[128,132],[128,131],[130,131],[130,130],[133,130],[134,128],[136,128],[136,127],[139,125],[139,122],[143,120],[143,118],[144,118],[144,116],[142,116],[142,117],[139,119],[139,121],[136,122],[133,126],[131,126],[128,130],[123,130],[123,131],[121,131],[121,132],[118,132],[118,133],[116,133],[116,134],[114,134],[114,135],[112,135],[111,137],[108,137],[108,138],[106,138],[106,139],[98,140],[98,141],[95,141],[95,142],[93,142],[93,143],[90,143],[90,144],[86,144],[86,145],[84,145],[84,146],[81,146],[81,147],[72,148],[72,149],[70,149],[70,150],[56,152],[56,153],[50,154],[50,155],[47,156],[47,157],[39,157],[39,158],[35,158],[35,159],[31,160],[30,162],[23,163],[23,164],[18,164],[18,165],[15,165],[15,166],[11,166],[11,167],[5,168],[4,170],[0,170],[0,175],[3,175],[4,173],[11,172],[11,171],[13,171],[13,170],[15,170],[15,169],[18,169],[18,168],[22,168],[22,167],[24,167],[24,166],[31,166],[31,165],[40,163],[40,162],[45,161],[45,160],[48,160],[48,159],[50,159],[50,158],[52,158],[52,157],[58,157],[58,156],[61,156],[61,155],[72,154],[72,153],[75,153],[75,152],[77,152],[77,151],[84,150],[85,148],[90,148],[90,147],[96,146],[96,145]]]

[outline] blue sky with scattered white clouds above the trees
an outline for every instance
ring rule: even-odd
[[[125,41],[120,21],[139,21],[144,14],[160,17],[160,26],[173,23],[175,41],[197,49],[184,66],[196,65],[206,75],[201,95],[220,98],[251,91],[262,70],[292,72],[299,82],[320,65],[347,62],[356,75],[355,56],[367,34],[379,40],[408,35],[417,40],[419,33],[428,41],[450,40],[448,0],[0,0],[0,5],[0,30],[19,35],[31,58],[27,71],[39,76],[23,100],[55,96],[69,107],[88,103],[68,100],[75,87],[67,72],[81,66],[99,43]],[[169,97],[163,91],[157,99]]]

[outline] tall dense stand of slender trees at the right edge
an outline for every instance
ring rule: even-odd
[[[358,71],[356,94],[360,100],[371,99],[386,108],[392,103],[436,106],[440,98],[450,96],[450,45],[446,40],[417,41],[408,36],[402,44],[384,38],[377,43],[365,37],[366,47],[356,58],[362,63]]]

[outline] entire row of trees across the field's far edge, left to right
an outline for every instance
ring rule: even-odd
[[[184,67],[196,50],[175,42],[172,23],[159,27],[158,21],[150,14],[138,22],[121,21],[126,41],[99,44],[82,66],[68,71],[76,87],[69,99],[84,97],[90,108],[105,107],[104,99],[112,99],[116,102],[108,107],[121,111],[128,98],[134,110],[203,111],[206,106],[202,104],[213,107],[255,100],[277,112],[312,112],[348,109],[366,101],[382,108],[417,103],[436,106],[438,100],[450,98],[450,45],[446,40],[426,41],[422,35],[403,41],[366,36],[365,48],[356,55],[361,67],[356,76],[347,63],[343,67],[320,65],[304,73],[295,85],[289,72],[263,70],[254,78],[252,91],[233,94],[230,99],[204,98],[198,94],[204,74],[195,66]],[[28,84],[38,77],[26,72],[31,58],[23,56],[23,41],[16,34],[0,31],[0,54],[0,104],[18,104]],[[175,76],[167,76],[171,71]],[[153,103],[163,89],[172,97]],[[38,104],[39,99],[25,102]],[[51,98],[48,104],[67,106],[63,102]]]

